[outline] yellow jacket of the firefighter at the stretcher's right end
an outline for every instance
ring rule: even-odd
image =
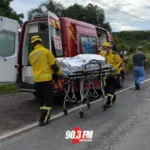
[[[120,74],[120,66],[122,65],[121,57],[112,50],[105,55],[107,64],[111,64],[112,67],[115,69],[114,74]]]

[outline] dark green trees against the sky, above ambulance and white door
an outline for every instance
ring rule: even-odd
[[[13,0],[0,0],[0,16],[15,19],[19,22],[20,26],[23,24],[24,14],[17,14],[11,7],[10,3]],[[87,6],[79,4],[71,5],[65,8],[61,3],[55,2],[54,0],[47,0],[41,3],[37,8],[29,10],[28,19],[32,19],[32,16],[36,12],[42,13],[41,6],[45,6],[49,11],[56,14],[58,17],[69,17],[77,19],[87,23],[101,26],[111,32],[111,26],[109,22],[105,22],[104,10],[97,5],[89,3]]]

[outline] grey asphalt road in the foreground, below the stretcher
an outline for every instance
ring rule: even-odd
[[[128,89],[117,95],[108,111],[103,102],[85,109],[84,119],[75,111],[45,127],[36,127],[16,137],[1,141],[2,150],[149,150],[150,149],[150,81],[140,91]],[[77,126],[93,130],[92,142],[72,144],[65,139],[67,130]]]

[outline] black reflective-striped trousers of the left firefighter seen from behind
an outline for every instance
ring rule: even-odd
[[[46,82],[36,82],[35,83],[35,90],[37,98],[40,101],[40,123],[46,123],[50,118],[50,110],[53,105],[53,83],[52,81]]]

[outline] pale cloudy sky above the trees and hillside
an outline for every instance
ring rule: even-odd
[[[27,20],[27,12],[38,7],[46,0],[14,0],[11,7],[17,13],[23,13]],[[74,3],[83,6],[96,4],[104,9],[105,22],[109,22],[113,32],[130,30],[150,30],[150,0],[55,0],[63,2],[64,7]]]

